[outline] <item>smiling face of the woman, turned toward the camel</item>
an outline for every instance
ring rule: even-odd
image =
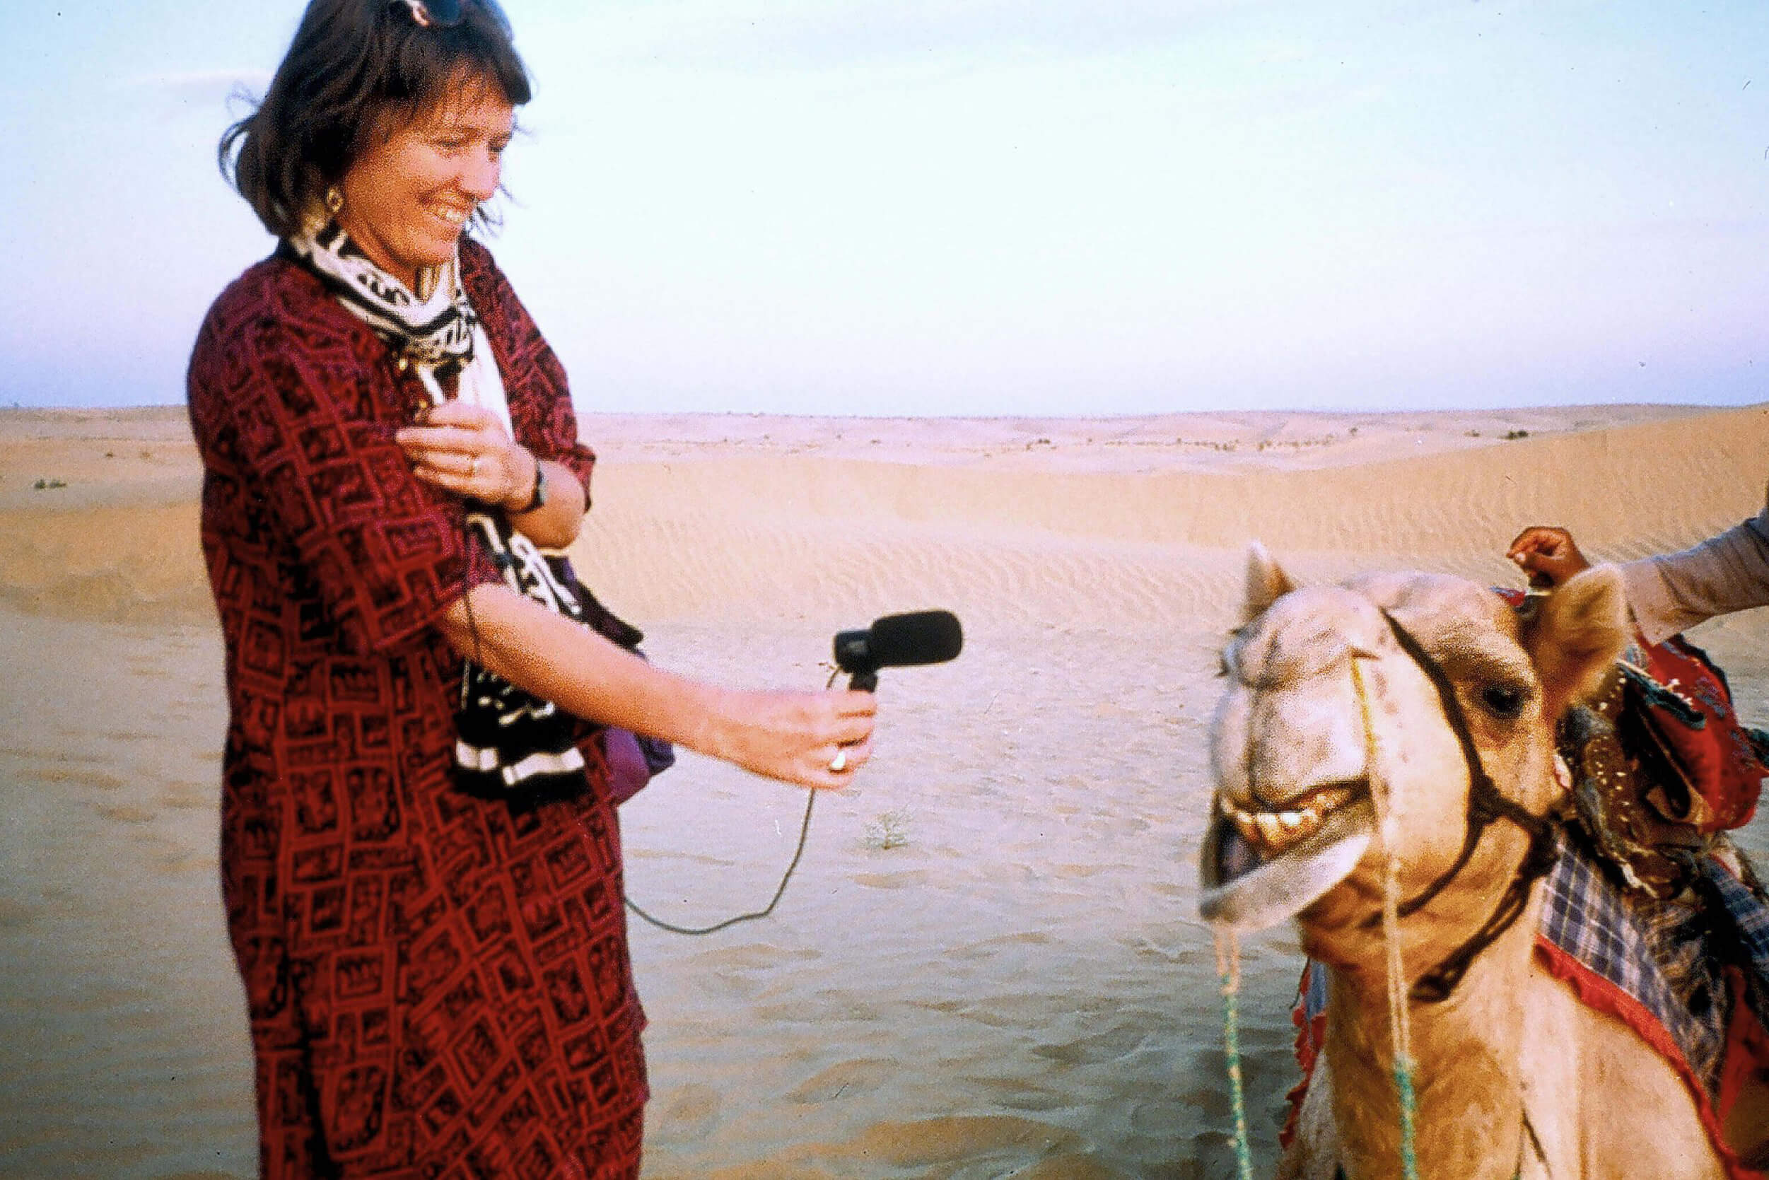
[[[497,87],[451,87],[435,110],[386,138],[371,136],[338,186],[338,225],[416,288],[417,271],[453,258],[474,207],[497,193],[515,117]]]

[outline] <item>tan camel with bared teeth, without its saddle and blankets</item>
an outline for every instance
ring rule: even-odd
[[[1753,1175],[1728,1171],[1673,1069],[1532,954],[1541,877],[1521,869],[1566,789],[1553,725],[1626,646],[1617,573],[1589,570],[1520,616],[1442,575],[1297,589],[1254,547],[1242,617],[1212,725],[1201,908],[1235,929],[1295,918],[1329,973],[1327,1044],[1277,1175],[1401,1175],[1380,920],[1389,840],[1398,895],[1424,902],[1396,927],[1421,1176]],[[1482,777],[1498,817],[1472,840]],[[1482,923],[1497,927],[1484,941]]]

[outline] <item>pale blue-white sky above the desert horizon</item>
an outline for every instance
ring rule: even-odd
[[[182,402],[301,5],[14,9],[0,405]],[[506,11],[490,244],[584,410],[1769,400],[1762,0]]]

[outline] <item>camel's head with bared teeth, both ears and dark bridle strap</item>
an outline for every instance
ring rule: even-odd
[[[1205,918],[1261,929],[1300,916],[1309,954],[1366,962],[1380,954],[1387,837],[1401,897],[1440,897],[1403,923],[1408,957],[1454,946],[1530,844],[1520,823],[1489,823],[1458,863],[1472,784],[1484,773],[1525,823],[1555,803],[1555,722],[1629,633],[1620,579],[1589,570],[1518,612],[1461,579],[1380,573],[1297,589],[1263,548],[1247,564],[1210,736]]]

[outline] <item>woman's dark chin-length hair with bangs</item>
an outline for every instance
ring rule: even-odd
[[[529,101],[529,74],[495,0],[463,0],[463,19],[423,28],[400,0],[311,0],[257,110],[226,129],[221,175],[264,228],[288,237],[343,179],[371,134],[435,108],[460,81]],[[479,214],[474,214],[478,219]]]

